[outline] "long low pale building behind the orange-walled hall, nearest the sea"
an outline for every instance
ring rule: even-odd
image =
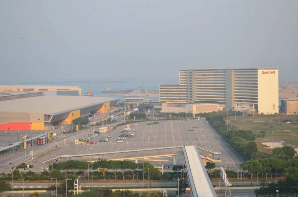
[[[54,85],[0,85],[0,92],[55,92],[56,95],[80,96],[81,88],[78,86],[54,86]]]

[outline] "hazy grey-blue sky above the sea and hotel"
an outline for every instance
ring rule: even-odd
[[[231,67],[298,81],[298,0],[0,1],[0,84]]]

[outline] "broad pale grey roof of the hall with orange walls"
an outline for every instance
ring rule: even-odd
[[[0,102],[2,112],[26,112],[42,114],[60,114],[84,107],[99,105],[117,98],[88,96],[36,96]]]

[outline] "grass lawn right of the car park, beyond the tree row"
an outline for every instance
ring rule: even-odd
[[[260,131],[265,131],[264,141],[272,141],[272,130],[274,130],[274,141],[284,140],[290,144],[298,145],[298,124],[283,123],[283,120],[292,120],[295,122],[295,117],[280,117],[281,125],[278,125],[278,116],[234,116],[228,117],[228,124],[233,125],[240,130],[251,130],[255,134],[259,134]],[[259,121],[259,122],[258,122]],[[297,122],[296,122],[297,123]],[[270,128],[270,127],[273,128]],[[257,142],[260,152],[271,152],[269,149],[265,149],[262,144]]]

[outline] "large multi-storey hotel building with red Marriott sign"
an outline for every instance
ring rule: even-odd
[[[183,69],[159,85],[162,103],[218,103],[227,110],[278,113],[278,68]]]

